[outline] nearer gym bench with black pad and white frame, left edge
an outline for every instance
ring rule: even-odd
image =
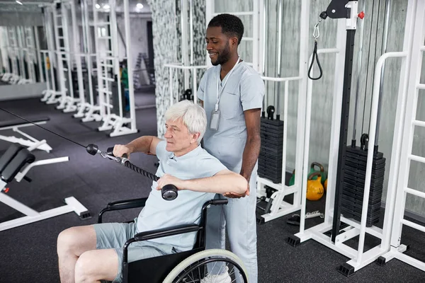
[[[0,223],[0,231],[12,229],[17,226],[33,223],[35,221],[40,221],[68,212],[77,213],[81,219],[87,219],[90,217],[90,213],[87,211],[86,207],[84,207],[74,197],[67,197],[64,200],[66,205],[62,207],[49,209],[45,212],[37,212],[25,204],[18,202],[12,197],[9,197],[6,195],[6,192],[4,192],[6,190],[6,185],[13,179],[15,179],[17,182],[21,182],[22,179],[30,182],[31,179],[26,177],[26,174],[30,168],[33,168],[34,166],[60,163],[65,161],[69,161],[69,158],[60,157],[35,161],[35,156],[31,154],[28,149],[24,149],[23,146],[11,144],[11,146],[8,147],[6,152],[0,157],[0,202],[3,202],[9,207],[18,210],[18,212],[26,214],[26,216]],[[28,166],[26,166],[27,164]],[[26,168],[23,168],[24,166],[26,166]],[[20,172],[21,169],[23,169],[22,172]]]

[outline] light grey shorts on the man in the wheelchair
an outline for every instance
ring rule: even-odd
[[[118,274],[113,282],[123,282],[123,246],[128,239],[135,236],[136,227],[137,219],[133,223],[94,224],[96,249],[113,248],[118,255]],[[171,253],[176,253],[173,246],[151,241],[136,242],[128,247],[128,262]]]

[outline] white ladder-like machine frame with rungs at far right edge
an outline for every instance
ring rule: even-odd
[[[411,49],[412,54],[409,54],[409,62],[407,62],[410,74],[404,78],[408,86],[403,93],[403,100],[400,101],[399,99],[397,101],[397,104],[402,103],[403,111],[397,111],[396,117],[400,116],[403,118],[404,116],[404,122],[400,122],[397,125],[399,134],[393,142],[397,142],[398,147],[397,152],[393,152],[392,154],[392,160],[394,159],[397,162],[397,167],[395,174],[391,175],[390,173],[391,178],[388,183],[388,190],[391,188],[391,198],[394,200],[394,202],[390,203],[391,209],[394,211],[394,218],[392,219],[391,238],[390,235],[387,235],[385,243],[382,244],[385,250],[387,250],[387,253],[378,259],[378,263],[383,265],[385,262],[397,258],[397,260],[401,260],[419,270],[425,271],[425,262],[405,255],[404,251],[407,250],[407,246],[401,243],[404,225],[425,233],[424,225],[404,219],[407,194],[425,198],[425,192],[408,186],[411,161],[425,163],[423,156],[416,156],[412,153],[414,130],[417,127],[425,127],[424,121],[416,120],[419,91],[425,89],[425,84],[421,83],[421,71],[423,71],[422,59],[425,52],[425,3],[424,1],[412,2],[413,4],[409,5],[407,11],[408,15],[410,13],[414,17],[409,27],[409,33],[414,37]]]

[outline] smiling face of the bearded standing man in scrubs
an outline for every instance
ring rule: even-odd
[[[237,38],[227,37],[221,27],[208,27],[205,41],[213,66],[225,64],[237,50]]]

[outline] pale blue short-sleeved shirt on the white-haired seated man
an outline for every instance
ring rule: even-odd
[[[166,141],[157,145],[159,167],[156,175],[161,178],[165,173],[182,180],[212,177],[227,168],[217,158],[198,146],[183,156],[176,157],[166,151]],[[215,194],[180,190],[175,200],[164,200],[157,182],[152,183],[145,207],[137,218],[137,233],[180,224],[199,224],[200,210],[205,202],[214,199]],[[149,240],[174,246],[176,250],[191,250],[196,241],[196,233],[184,233],[176,236]],[[148,241],[148,242],[149,242]]]

